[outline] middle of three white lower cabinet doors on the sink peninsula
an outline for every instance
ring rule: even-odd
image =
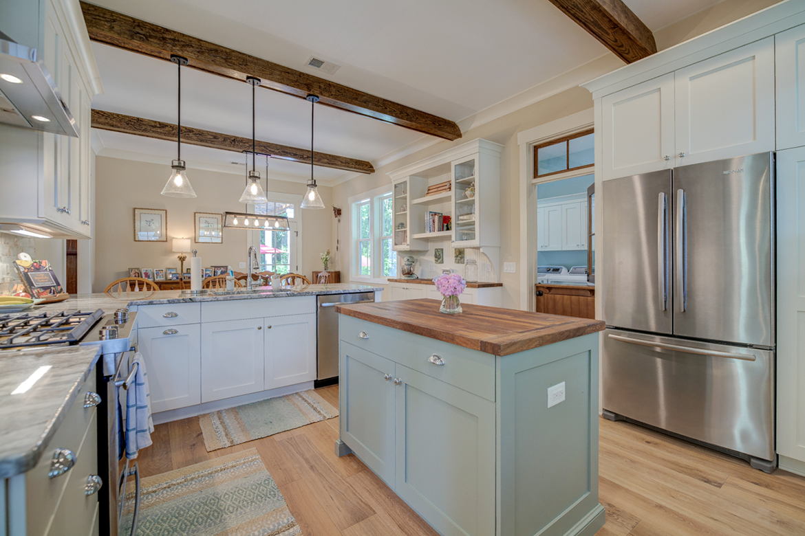
[[[262,318],[201,325],[201,402],[262,391]]]

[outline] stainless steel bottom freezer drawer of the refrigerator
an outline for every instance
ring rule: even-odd
[[[605,410],[774,459],[773,351],[607,329],[601,373]]]

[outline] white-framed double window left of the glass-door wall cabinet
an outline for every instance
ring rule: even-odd
[[[397,275],[397,253],[392,248],[394,243],[393,216],[394,207],[389,191],[359,199],[353,203],[353,237],[355,240],[353,272],[356,276],[394,277]]]

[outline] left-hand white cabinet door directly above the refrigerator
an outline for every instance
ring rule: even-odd
[[[601,101],[604,180],[674,165],[674,74]]]

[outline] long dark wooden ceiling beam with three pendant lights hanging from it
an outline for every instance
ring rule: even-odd
[[[458,125],[442,117],[100,6],[81,2],[81,10],[84,12],[89,39],[98,43],[166,61],[171,58],[171,54],[181,55],[189,60],[190,68],[242,82],[246,82],[246,76],[256,76],[262,80],[261,88],[274,89],[301,98],[312,93],[320,96],[320,104],[333,108],[447,140],[461,137]]]

